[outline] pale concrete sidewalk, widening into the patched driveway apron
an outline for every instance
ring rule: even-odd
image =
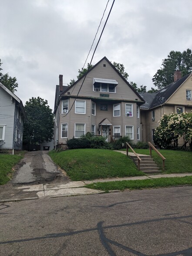
[[[10,187],[0,197],[0,202],[11,202],[21,200],[39,199],[44,196],[60,197],[71,195],[89,195],[99,194],[103,191],[84,188],[85,185],[96,182],[111,182],[123,180],[143,180],[143,179],[158,179],[168,177],[185,177],[192,176],[192,173],[172,173],[172,174],[159,174],[159,175],[146,175],[125,178],[111,178],[111,179],[94,179],[92,181],[78,181],[68,182],[67,184],[38,184],[38,185],[22,185]]]

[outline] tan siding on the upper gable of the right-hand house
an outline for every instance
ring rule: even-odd
[[[172,94],[166,103],[179,106],[192,106],[192,101],[186,99],[186,90],[192,91],[192,75]]]

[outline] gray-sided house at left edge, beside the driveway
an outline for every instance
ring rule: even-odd
[[[22,101],[0,83],[0,151],[22,149],[24,118]]]

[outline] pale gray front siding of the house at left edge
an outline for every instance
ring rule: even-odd
[[[13,148],[14,114],[15,100],[0,88],[0,125],[5,125],[5,144],[0,149]]]

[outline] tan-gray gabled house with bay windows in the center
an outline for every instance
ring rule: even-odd
[[[143,98],[106,57],[71,86],[63,86],[60,75],[54,105],[54,146],[64,148],[67,139],[87,132],[102,135],[106,141],[128,136],[137,143],[142,139],[143,103]]]

